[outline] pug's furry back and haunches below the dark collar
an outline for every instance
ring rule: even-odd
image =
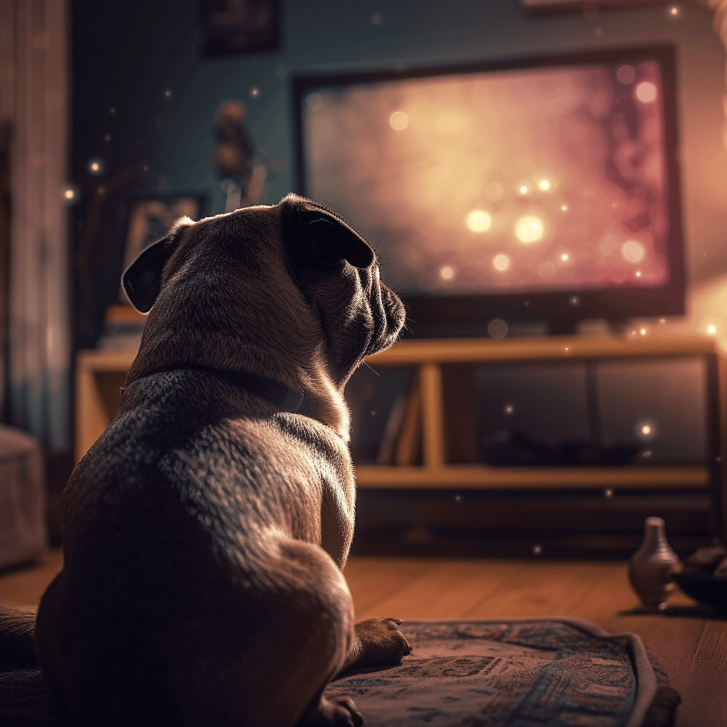
[[[251,716],[280,712],[316,656],[319,672],[340,667],[345,648],[321,654],[318,638],[353,623],[340,571],[309,545],[316,521],[297,518],[330,489],[310,442],[348,467],[326,434],[201,371],[126,388],[69,482],[69,565],[39,611],[41,664],[76,723],[98,723],[109,704],[119,725],[230,724],[232,707],[233,723],[294,723],[313,692],[292,695],[282,720]]]

